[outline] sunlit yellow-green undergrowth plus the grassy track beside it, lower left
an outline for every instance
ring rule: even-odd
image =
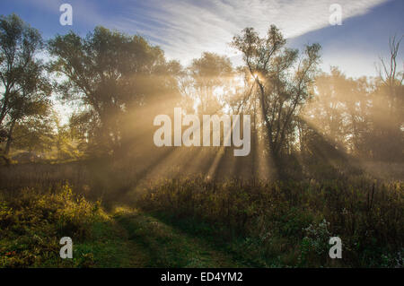
[[[33,188],[2,192],[1,267],[233,267],[231,256],[143,212]],[[61,259],[58,240],[70,237],[73,259]]]

